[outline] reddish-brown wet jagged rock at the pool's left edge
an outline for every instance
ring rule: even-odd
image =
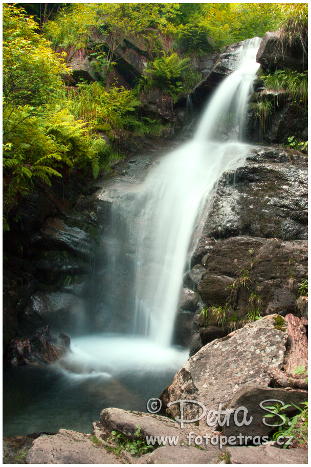
[[[9,361],[12,365],[48,364],[70,352],[70,337],[61,333],[51,334],[49,326],[29,339],[15,339],[9,346]]]

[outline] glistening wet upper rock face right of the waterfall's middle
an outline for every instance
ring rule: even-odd
[[[237,235],[306,239],[306,164],[299,153],[251,150],[241,167],[220,178],[200,242]]]

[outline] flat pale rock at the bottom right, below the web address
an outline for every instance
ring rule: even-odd
[[[230,446],[231,464],[306,464],[308,453],[302,449],[277,449],[272,446]]]

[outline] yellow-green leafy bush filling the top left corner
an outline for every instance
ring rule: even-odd
[[[36,29],[37,24],[23,9],[3,4],[4,110],[28,105],[32,115],[35,107],[46,104],[62,86],[60,74],[67,70],[63,58]],[[4,134],[7,132],[4,121]]]

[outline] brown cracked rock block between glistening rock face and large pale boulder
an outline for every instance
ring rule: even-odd
[[[229,303],[245,314],[254,292],[261,314],[295,314],[295,293],[307,274],[307,242],[232,237],[216,244],[206,267],[197,291],[207,307]]]

